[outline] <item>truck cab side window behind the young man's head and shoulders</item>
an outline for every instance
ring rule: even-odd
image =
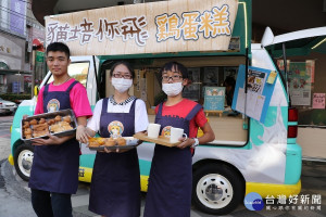
[[[78,80],[85,88],[87,86],[87,75],[89,71],[89,62],[72,62],[68,66],[68,74],[71,77]],[[48,80],[49,82],[53,81],[53,77],[51,76]]]

